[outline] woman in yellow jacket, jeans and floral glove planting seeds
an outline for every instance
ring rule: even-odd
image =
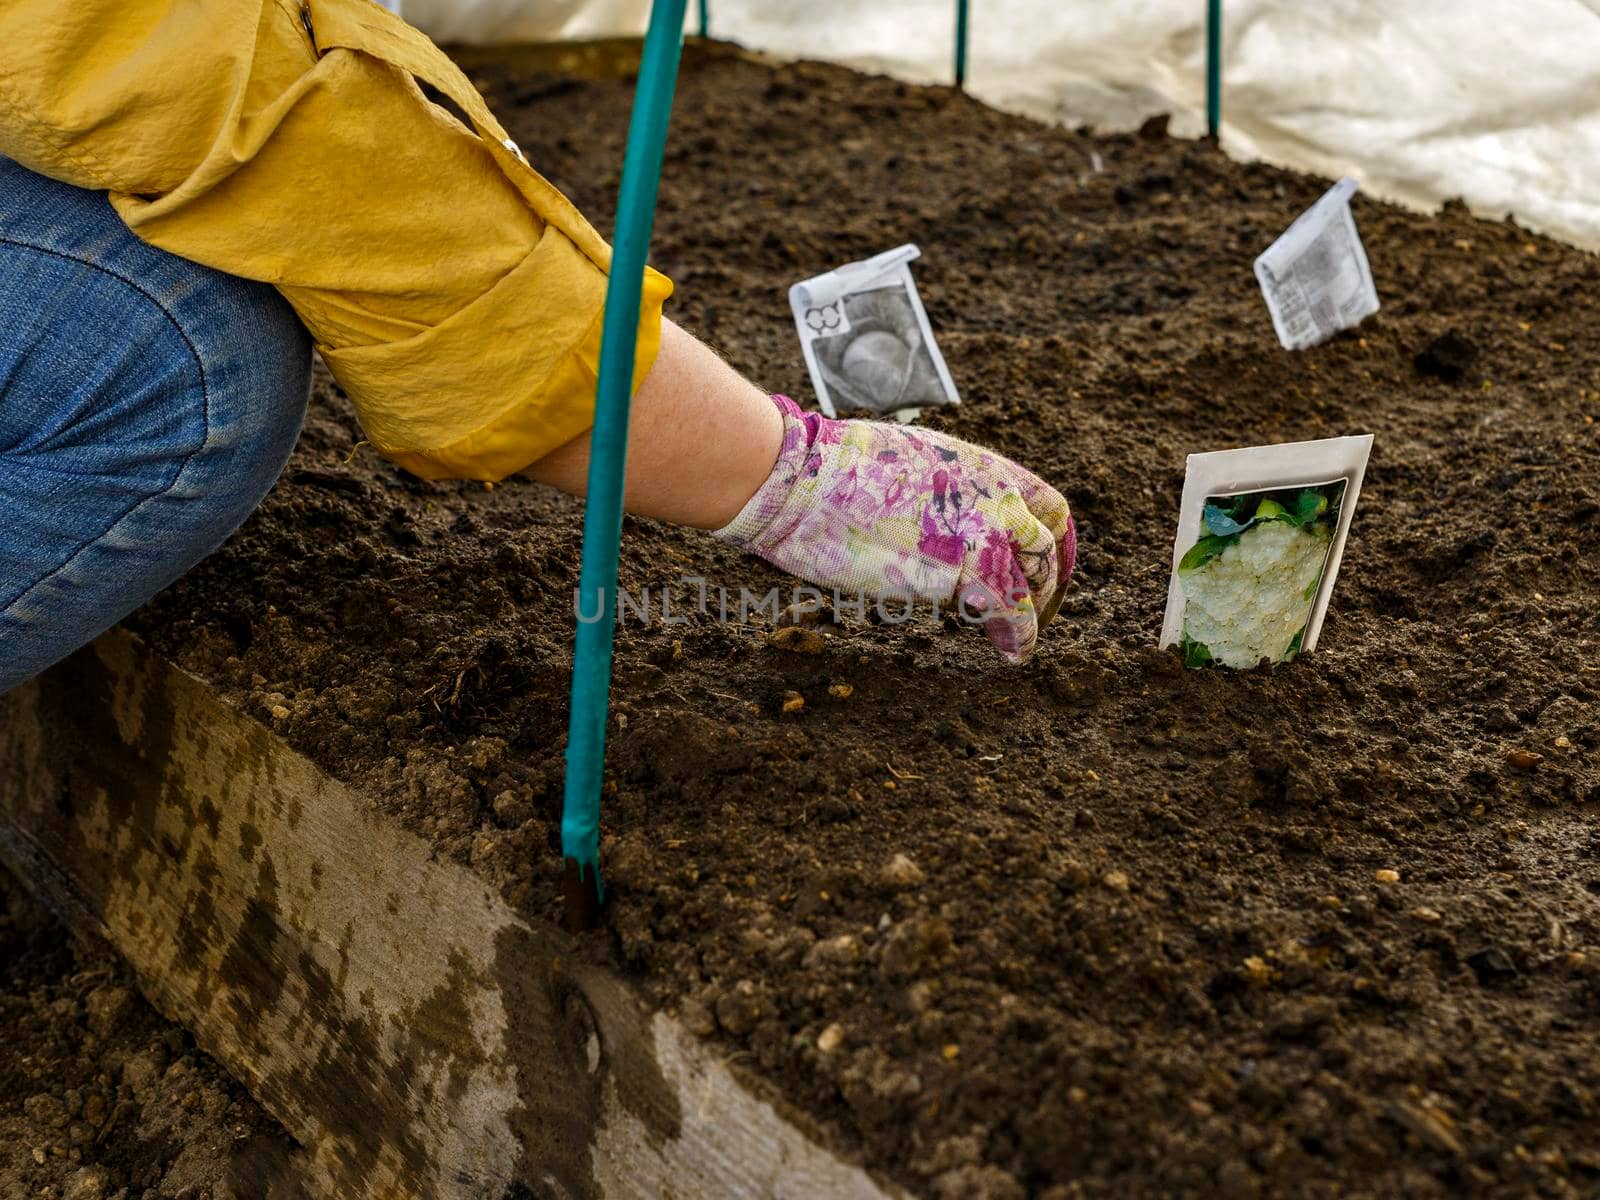
[[[406,469],[582,491],[610,248],[426,37],[371,0],[0,0],[0,690],[243,522],[312,346]],[[1026,658],[1072,571],[1061,494],[768,397],[669,293],[650,272],[629,510],[958,602]]]

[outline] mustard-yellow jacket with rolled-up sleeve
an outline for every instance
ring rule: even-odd
[[[589,429],[610,246],[373,0],[0,0],[0,154],[275,285],[394,461],[493,480]]]

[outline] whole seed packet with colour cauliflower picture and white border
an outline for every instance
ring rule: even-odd
[[[1371,446],[1365,434],[1190,454],[1162,646],[1190,667],[1312,650]]]

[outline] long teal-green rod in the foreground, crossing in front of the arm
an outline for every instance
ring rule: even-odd
[[[589,501],[578,576],[578,645],[573,651],[573,709],[566,733],[566,790],[562,800],[562,854],[566,858],[568,922],[589,923],[605,898],[600,885],[600,782],[611,690],[611,635],[616,618],[616,565],[622,539],[622,472],[627,411],[634,398],[634,357],[656,190],[672,117],[672,93],[683,50],[688,0],[654,0],[638,67],[634,115],[622,155],[611,277],[600,326],[600,379],[589,438]],[[584,915],[576,915],[576,914]]]

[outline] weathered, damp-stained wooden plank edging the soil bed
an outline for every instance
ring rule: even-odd
[[[0,856],[283,1122],[315,1192],[894,1194],[125,634],[0,696]]]

